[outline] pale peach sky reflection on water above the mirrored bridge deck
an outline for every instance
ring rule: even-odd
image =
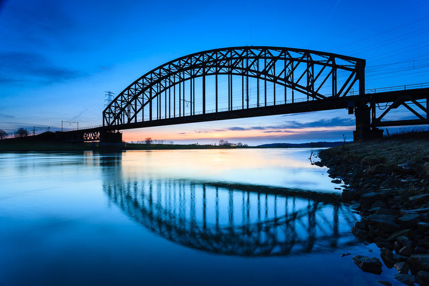
[[[130,151],[122,156],[127,177],[174,177],[338,192],[326,168],[311,165],[315,149]],[[174,157],[174,160],[171,158]],[[177,160],[179,158],[179,160]],[[310,179],[311,178],[311,179]]]

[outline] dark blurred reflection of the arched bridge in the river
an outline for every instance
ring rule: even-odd
[[[187,179],[113,176],[109,199],[152,232],[212,253],[278,256],[357,243],[355,214],[338,196]]]

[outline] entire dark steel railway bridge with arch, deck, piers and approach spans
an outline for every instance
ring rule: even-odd
[[[62,139],[120,142],[123,129],[347,108],[355,140],[381,126],[429,123],[429,84],[365,89],[365,60],[281,47],[235,47],[187,55],[135,80],[104,109],[103,125]],[[415,119],[382,120],[404,106]],[[376,111],[383,110],[377,116]]]

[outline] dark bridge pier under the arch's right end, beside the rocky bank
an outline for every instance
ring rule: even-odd
[[[368,141],[383,137],[383,130],[376,127],[371,128],[371,107],[366,104],[355,108],[356,130],[353,131],[355,142]]]

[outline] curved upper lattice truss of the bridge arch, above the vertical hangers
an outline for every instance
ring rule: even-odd
[[[260,60],[266,62],[262,70]],[[276,71],[276,65],[280,63],[284,66]],[[316,72],[315,67],[320,70]],[[236,47],[195,53],[167,62],[134,81],[104,109],[103,125],[122,125],[133,120],[137,122],[137,115],[147,104],[151,105],[152,120],[152,101],[158,95],[177,84],[180,86],[183,81],[197,77],[203,77],[204,82],[205,76],[209,75],[257,78],[258,84],[259,80],[274,83],[274,97],[275,84],[278,84],[285,86],[285,94],[287,87],[307,95],[307,98],[312,100],[346,96],[352,86],[359,81],[359,94],[362,95],[364,67],[363,59],[281,47]],[[304,72],[294,75],[298,68],[304,68]],[[325,71],[326,69],[328,70]],[[342,84],[337,81],[337,70],[348,72],[348,78]],[[327,72],[327,75],[323,72]],[[322,74],[321,82],[316,82]],[[329,78],[332,80],[328,80]],[[332,94],[321,95],[319,93],[321,87],[328,84],[332,84]],[[161,103],[161,100],[159,102]],[[203,108],[204,106],[205,99]]]

